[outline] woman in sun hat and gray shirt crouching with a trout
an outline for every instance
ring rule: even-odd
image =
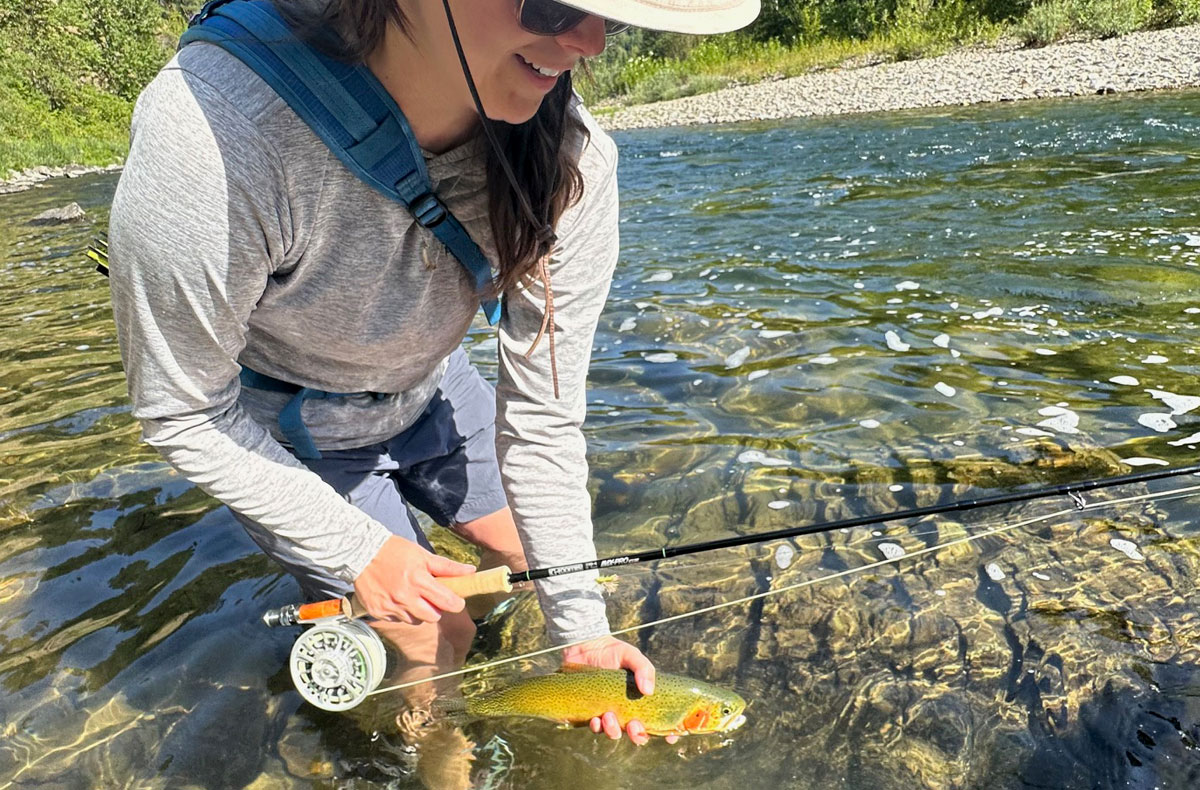
[[[486,563],[594,556],[580,425],[618,251],[617,155],[574,97],[572,70],[620,23],[716,32],[757,8],[280,0],[298,36],[365,64],[395,100],[438,196],[493,265],[494,395],[460,348],[480,294],[449,250],[248,66],[182,48],[138,101],[110,226],[146,441],[307,594],[353,588],[377,620],[464,650],[463,600],[437,577],[474,569],[432,553],[409,505]],[[319,396],[296,400],[300,388]],[[300,433],[281,427],[289,406]],[[625,668],[653,692],[654,668],[608,634],[592,579],[538,593],[556,644],[590,640],[564,660]],[[622,735],[611,714],[593,730]],[[628,734],[647,740],[637,723]]]

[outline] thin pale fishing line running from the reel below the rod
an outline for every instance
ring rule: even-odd
[[[1162,475],[1162,477],[1168,477],[1168,475]],[[907,551],[907,552],[905,552],[902,555],[899,555],[899,556],[895,556],[895,557],[884,557],[883,559],[880,559],[880,561],[876,561],[876,562],[872,562],[872,563],[868,563],[868,564],[860,565],[858,568],[848,568],[846,570],[839,570],[836,573],[827,574],[824,576],[817,576],[816,579],[805,579],[804,581],[799,581],[799,582],[796,582],[796,583],[792,583],[792,585],[786,585],[786,586],[779,587],[776,589],[764,589],[762,592],[757,592],[757,593],[754,593],[754,594],[750,594],[750,596],[745,596],[745,597],[738,598],[736,600],[726,600],[726,602],[721,602],[719,604],[713,604],[712,606],[704,606],[702,609],[696,609],[696,610],[692,610],[692,611],[689,611],[689,612],[683,612],[683,614],[679,614],[679,615],[671,615],[670,617],[662,617],[662,618],[653,620],[653,621],[649,621],[649,622],[646,622],[646,623],[640,623],[637,626],[630,626],[628,628],[620,628],[618,630],[611,632],[611,634],[613,636],[620,636],[623,634],[632,634],[632,633],[638,632],[638,630],[641,630],[643,628],[652,628],[654,626],[662,626],[665,623],[677,622],[677,621],[680,621],[680,620],[686,620],[689,617],[697,617],[700,615],[706,615],[706,614],[709,614],[709,612],[720,611],[722,609],[730,609],[732,606],[738,606],[740,604],[746,604],[746,603],[750,603],[752,600],[758,600],[758,599],[762,599],[762,598],[769,598],[772,596],[778,596],[778,594],[781,594],[781,593],[785,593],[785,592],[791,592],[793,589],[800,589],[802,587],[810,587],[810,586],[816,585],[817,582],[821,582],[821,581],[829,581],[832,579],[841,579],[841,577],[845,577],[845,576],[851,576],[853,574],[862,573],[864,570],[871,570],[872,568],[882,568],[883,565],[889,565],[889,564],[899,563],[901,559],[908,559],[908,558],[920,557],[920,556],[924,556],[924,555],[928,555],[928,553],[932,553],[935,551],[942,551],[944,549],[949,549],[950,546],[967,544],[967,543],[972,543],[974,540],[982,540],[983,538],[988,538],[990,535],[1001,534],[1003,532],[1009,532],[1012,529],[1018,529],[1020,527],[1027,527],[1027,526],[1033,525],[1033,523],[1039,523],[1042,521],[1049,521],[1050,519],[1057,519],[1057,517],[1061,517],[1061,516],[1064,516],[1064,515],[1068,515],[1068,514],[1073,514],[1073,513],[1078,514],[1078,513],[1085,513],[1085,511],[1088,511],[1088,510],[1099,510],[1099,509],[1103,509],[1103,508],[1108,508],[1108,507],[1112,507],[1112,505],[1117,505],[1117,504],[1128,504],[1128,503],[1132,503],[1132,502],[1158,501],[1158,499],[1166,499],[1166,498],[1181,498],[1181,497],[1184,497],[1184,496],[1187,496],[1189,493],[1194,493],[1196,491],[1200,491],[1200,485],[1182,486],[1182,487],[1178,487],[1178,489],[1171,489],[1169,491],[1158,491],[1158,492],[1154,492],[1154,493],[1139,493],[1139,495],[1135,495],[1135,496],[1118,498],[1118,499],[1106,499],[1104,502],[1084,502],[1081,498],[1079,498],[1079,495],[1076,493],[1076,495],[1072,496],[1072,501],[1074,503],[1074,507],[1070,507],[1070,508],[1063,508],[1063,509],[1056,510],[1054,513],[1048,513],[1048,514],[1043,514],[1043,515],[1039,515],[1039,516],[1032,516],[1030,519],[1025,519],[1022,521],[1015,521],[1013,523],[1001,525],[998,527],[994,527],[991,529],[986,529],[986,531],[979,532],[977,534],[964,535],[961,538],[955,538],[955,539],[949,540],[947,543],[937,544],[937,545],[934,545],[934,546],[926,546],[924,549],[919,549],[919,550],[916,550],[916,551]],[[874,521],[874,523],[878,523],[878,522],[880,522],[880,520],[875,520]],[[590,641],[594,641],[594,638],[593,639],[582,639],[582,640],[577,640],[577,641],[574,641],[574,642],[566,642],[564,645],[554,645],[552,647],[545,647],[545,648],[541,648],[541,650],[530,651],[528,653],[521,653],[518,656],[510,656],[508,658],[499,658],[499,659],[494,659],[494,660],[491,660],[491,662],[486,662],[484,664],[475,664],[473,666],[463,666],[461,669],[451,670],[449,672],[442,672],[440,675],[433,675],[431,677],[425,677],[425,678],[420,678],[420,680],[415,680],[415,681],[407,681],[404,683],[397,683],[395,686],[388,686],[388,687],[384,687],[384,688],[377,688],[377,689],[370,692],[368,694],[366,694],[366,696],[373,696],[376,694],[383,694],[384,692],[397,692],[400,689],[412,688],[414,686],[421,686],[422,683],[434,683],[437,681],[444,681],[444,680],[448,680],[448,678],[451,678],[451,677],[462,677],[464,675],[472,675],[472,674],[475,674],[475,672],[482,672],[485,670],[494,669],[497,666],[505,666],[508,664],[514,664],[516,662],[522,662],[522,660],[527,660],[527,659],[530,659],[530,658],[536,658],[539,656],[546,656],[548,653],[557,653],[557,652],[559,652],[562,650],[565,650],[568,647],[576,647],[578,645],[586,645],[587,642],[590,642]]]

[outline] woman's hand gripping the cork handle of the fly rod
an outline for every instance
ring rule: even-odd
[[[442,612],[460,612],[466,602],[437,576],[464,576],[475,568],[428,552],[412,540],[388,538],[354,580],[354,596],[376,620],[436,623]]]

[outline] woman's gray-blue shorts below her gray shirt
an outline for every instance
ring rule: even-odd
[[[466,523],[508,507],[496,460],[496,391],[458,348],[425,411],[402,433],[353,450],[322,450],[302,463],[392,533],[426,549],[412,508],[442,526]],[[302,563],[278,539],[234,514],[263,551],[311,598],[344,596],[350,585]]]

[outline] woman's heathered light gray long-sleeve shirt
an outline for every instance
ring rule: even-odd
[[[560,399],[533,286],[499,325],[497,449],[533,567],[592,558],[583,421],[596,321],[617,261],[616,146],[582,107],[583,198],[552,258]],[[493,257],[474,140],[426,157],[438,193]],[[242,389],[240,366],[316,389],[320,449],[404,430],[479,301],[461,264],[398,203],[360,181],[262,79],[208,44],[182,49],[139,97],[110,221],[113,311],[133,414],[187,479],[353,581],[388,529],[281,444],[287,395]],[[539,583],[551,639],[607,633],[594,576]]]

